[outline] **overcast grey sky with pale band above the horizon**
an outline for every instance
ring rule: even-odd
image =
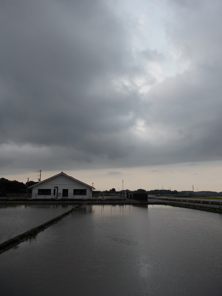
[[[222,191],[221,9],[1,1],[0,177]]]

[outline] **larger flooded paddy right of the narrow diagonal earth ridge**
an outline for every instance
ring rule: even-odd
[[[1,296],[221,296],[222,215],[86,205],[0,255]]]

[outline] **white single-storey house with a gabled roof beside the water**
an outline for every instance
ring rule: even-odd
[[[32,198],[92,198],[95,188],[61,172],[30,186]]]

